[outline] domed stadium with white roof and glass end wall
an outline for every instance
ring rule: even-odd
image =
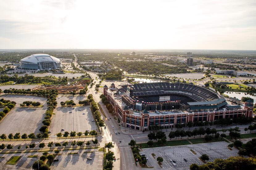
[[[48,54],[32,54],[20,60],[21,69],[57,69],[61,67],[59,58]]]

